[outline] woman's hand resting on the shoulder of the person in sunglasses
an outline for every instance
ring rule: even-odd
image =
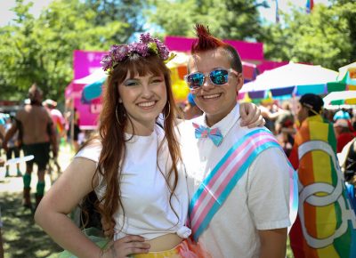
[[[242,119],[241,126],[254,128],[262,127],[265,124],[261,110],[253,103],[241,103],[239,105],[239,114]]]

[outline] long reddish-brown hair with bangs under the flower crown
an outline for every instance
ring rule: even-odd
[[[165,108],[162,110],[165,117],[164,141],[167,142],[173,165],[167,173],[164,173],[163,171],[161,171],[161,173],[165,176],[166,183],[171,191],[170,200],[174,196],[174,190],[176,189],[178,182],[177,163],[182,159],[179,142],[174,133],[177,109],[174,104],[170,70],[158,55],[151,54],[150,56],[142,57],[136,54],[127,57],[126,60],[120,62],[115,69],[113,69],[107,79],[106,89],[102,99],[99,135],[94,137],[99,139],[102,144],[101,156],[99,158],[96,173],[101,173],[103,183],[107,186],[104,196],[99,200],[101,206],[99,206],[98,203],[97,208],[100,211],[103,220],[109,222],[109,227],[111,229],[115,226],[113,215],[117,213],[119,209],[121,209],[125,215],[124,206],[121,200],[120,179],[122,173],[121,164],[123,164],[125,159],[125,126],[127,123],[130,123],[130,120],[125,116],[124,106],[118,101],[120,96],[117,86],[125,80],[127,73],[132,77],[136,74],[139,76],[145,76],[147,74],[163,74],[165,77],[167,102]],[[86,145],[88,144],[90,143],[87,143]],[[161,147],[162,144],[159,146],[158,152]],[[123,225],[120,225],[120,228],[122,227]]]

